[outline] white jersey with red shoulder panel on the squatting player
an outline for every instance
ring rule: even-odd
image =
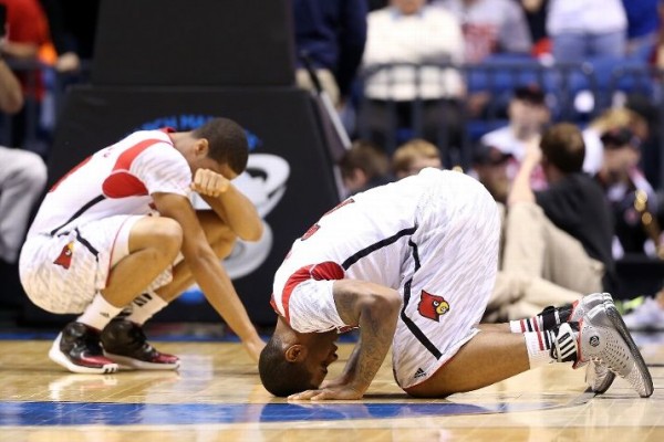
[[[168,130],[134,133],[83,160],[46,193],[28,236],[114,214],[147,214],[155,192],[189,197],[191,170]]]

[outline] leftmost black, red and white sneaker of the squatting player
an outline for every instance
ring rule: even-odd
[[[100,332],[83,323],[69,323],[58,335],[49,357],[71,372],[104,375],[117,371],[117,364],[104,356]]]

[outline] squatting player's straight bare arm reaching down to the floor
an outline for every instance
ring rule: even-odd
[[[153,199],[163,217],[176,220],[183,228],[181,253],[206,298],[240,339],[249,343],[246,348],[257,359],[263,343],[251,324],[230,277],[208,244],[191,203],[187,198],[173,193],[154,193]],[[252,348],[255,351],[251,351]]]

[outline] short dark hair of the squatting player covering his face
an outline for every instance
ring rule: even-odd
[[[245,129],[229,118],[212,118],[193,130],[196,138],[208,140],[208,157],[215,161],[227,164],[236,173],[247,168],[249,159],[249,141]]]

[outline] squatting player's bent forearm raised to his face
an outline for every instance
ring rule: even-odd
[[[258,241],[262,221],[253,203],[232,185],[219,197],[201,196],[212,210],[245,241]]]

